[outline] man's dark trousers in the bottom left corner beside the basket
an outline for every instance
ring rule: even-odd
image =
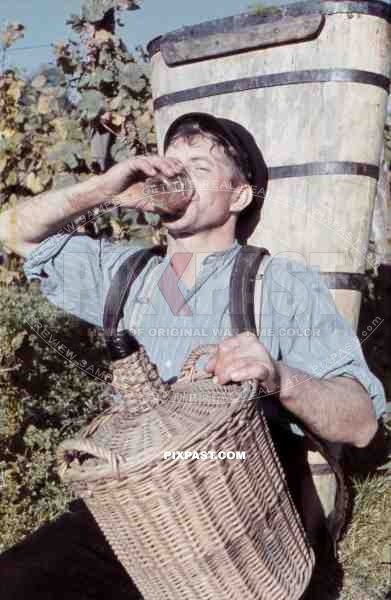
[[[0,598],[142,600],[81,500],[0,555]]]

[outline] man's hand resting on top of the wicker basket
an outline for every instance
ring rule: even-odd
[[[209,359],[206,370],[214,373],[220,384],[257,379],[266,393],[279,389],[275,361],[258,337],[249,331],[224,338],[216,354]]]

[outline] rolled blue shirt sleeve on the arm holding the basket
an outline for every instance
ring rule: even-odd
[[[319,271],[279,257],[271,261],[266,276],[282,360],[317,378],[356,379],[380,417],[386,410],[384,387],[370,371],[358,336],[338,311]]]

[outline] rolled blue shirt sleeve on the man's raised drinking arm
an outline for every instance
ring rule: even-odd
[[[103,326],[104,300],[117,268],[141,247],[93,239],[73,231],[43,240],[23,265],[29,281],[38,279],[47,299],[84,321]]]

